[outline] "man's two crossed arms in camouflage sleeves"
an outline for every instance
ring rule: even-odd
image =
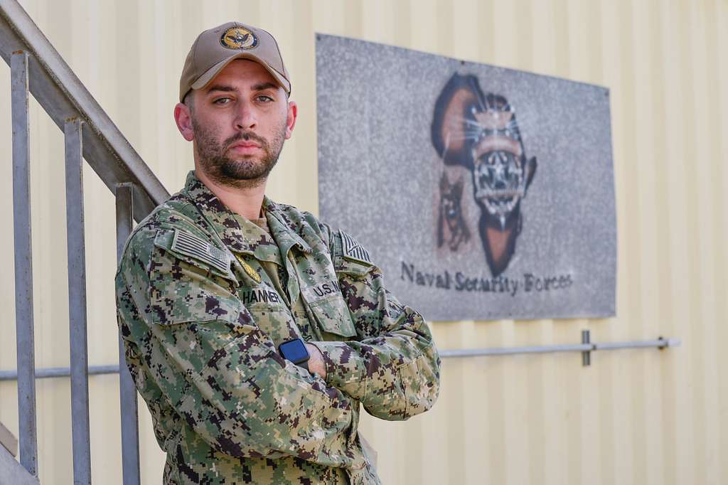
[[[379,269],[344,259],[335,234],[332,259],[357,337],[312,342],[325,380],[282,359],[234,288],[156,237],[138,228],[116,274],[127,363],[150,409],[178,414],[213,449],[360,468],[359,402],[376,417],[407,419],[437,398],[427,324],[384,288]]]

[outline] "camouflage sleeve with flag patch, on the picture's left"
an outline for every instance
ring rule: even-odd
[[[127,244],[116,275],[119,320],[145,379],[213,449],[360,468],[357,411],[323,379],[282,359],[234,283],[154,245]]]

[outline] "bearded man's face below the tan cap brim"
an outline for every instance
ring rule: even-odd
[[[296,117],[296,106],[288,103],[282,87],[260,64],[234,60],[191,95],[199,169],[217,184],[263,184]]]

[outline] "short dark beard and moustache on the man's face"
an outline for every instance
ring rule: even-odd
[[[285,124],[280,127],[269,143],[265,138],[251,131],[239,131],[222,143],[215,140],[212,130],[198,125],[192,117],[195,151],[202,171],[215,184],[251,189],[261,186],[278,162],[278,156],[285,140]],[[263,157],[243,157],[232,159],[227,155],[227,147],[237,141],[255,141],[264,151]]]

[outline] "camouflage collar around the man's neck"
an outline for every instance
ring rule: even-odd
[[[228,248],[237,253],[248,253],[258,259],[269,259],[267,256],[269,252],[261,248],[261,246],[266,245],[266,241],[246,240],[232,211],[197,178],[194,170],[190,170],[187,174],[187,180],[182,192],[198,208],[199,212],[202,213],[202,216],[205,217]],[[311,252],[309,245],[296,234],[295,228],[290,224],[290,221],[288,221],[278,205],[266,196],[263,198],[263,210],[272,237],[275,240],[275,242],[270,241],[270,243],[277,244],[282,258],[285,259],[288,250],[294,245],[298,246],[304,253]]]

